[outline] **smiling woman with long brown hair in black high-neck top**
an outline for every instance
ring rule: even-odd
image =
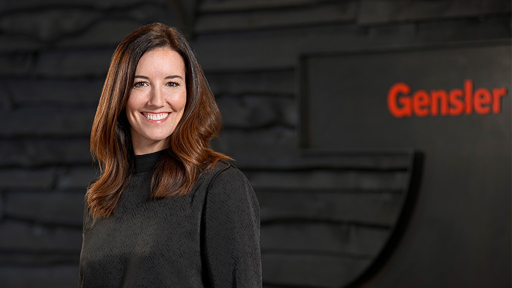
[[[117,47],[91,132],[80,287],[261,286],[259,206],[213,151],[221,117],[186,38],[160,23]]]

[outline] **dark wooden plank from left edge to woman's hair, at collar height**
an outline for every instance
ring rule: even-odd
[[[0,140],[0,167],[92,163],[88,138]]]

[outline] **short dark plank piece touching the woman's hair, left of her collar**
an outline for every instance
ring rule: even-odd
[[[99,170],[92,166],[77,166],[59,171],[57,188],[86,192],[89,184],[99,176]]]

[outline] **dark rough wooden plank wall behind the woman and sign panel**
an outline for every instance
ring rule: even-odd
[[[222,141],[216,140],[214,146],[237,159],[237,166],[246,172],[262,204],[262,248],[269,252],[264,254],[268,287],[286,283],[339,286],[353,279],[373,259],[360,258],[360,254],[375,255],[376,246],[387,238],[382,236],[383,230],[365,230],[347,219],[393,228],[393,224],[386,224],[391,222],[381,222],[394,218],[393,213],[400,209],[397,199],[403,195],[396,190],[404,191],[408,177],[407,154],[304,155],[298,129],[299,57],[305,53],[510,39],[511,34],[510,2],[502,0],[203,0],[196,10],[194,5],[194,1],[170,0],[0,4],[0,111],[4,116],[0,121],[1,286],[77,284],[83,195],[96,175],[89,154],[94,111],[115,46],[144,24],[163,22],[191,35],[224,117]],[[364,173],[368,170],[391,176],[368,176]],[[397,181],[391,182],[395,190],[385,193],[361,197],[350,193],[354,190],[343,190],[386,190],[389,179]],[[297,188],[299,180],[311,191],[286,194]],[[326,181],[332,184],[327,189],[344,192],[315,190],[326,188]],[[318,198],[318,193],[324,198]],[[365,198],[368,195],[375,197]],[[288,206],[279,204],[287,198],[293,199]],[[352,211],[347,204],[362,202],[373,203],[365,206],[370,214]],[[419,202],[418,209],[424,217],[434,217],[435,205]],[[330,217],[327,220],[339,221],[330,226],[323,222],[296,224],[298,228],[293,229],[293,225],[275,224],[276,218],[283,217],[275,211],[283,207],[288,207],[284,210],[288,211],[286,219],[308,213],[314,218],[332,211],[326,214]],[[510,211],[502,213],[507,222],[489,223],[491,229],[510,228]],[[464,219],[447,221],[447,227],[453,228]],[[466,273],[471,270],[464,258],[450,255],[450,251],[436,259],[443,263],[440,266],[408,257],[414,255],[412,251],[421,250],[422,241],[429,240],[427,233],[440,233],[437,229],[417,227],[406,233],[403,248],[364,286],[510,286],[510,255],[496,255],[497,263],[508,266],[481,275]],[[306,237],[297,240],[300,235]],[[384,240],[372,244],[357,235]],[[464,239],[458,241],[464,243]],[[298,250],[316,249],[327,256],[310,257],[317,255],[312,253],[286,258],[271,253],[289,253],[282,251],[287,245]],[[343,255],[333,258],[322,245],[336,255],[349,254],[364,263],[357,266]],[[502,250],[510,251],[509,247]],[[296,269],[280,270],[288,266]],[[318,266],[324,267],[322,279],[327,280],[323,282],[314,282],[318,275],[307,274]]]

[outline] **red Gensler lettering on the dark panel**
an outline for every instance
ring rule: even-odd
[[[464,80],[463,89],[417,90],[411,95],[411,87],[395,83],[388,91],[388,110],[396,118],[425,116],[486,115],[501,112],[501,98],[507,89],[473,89],[473,80]]]

